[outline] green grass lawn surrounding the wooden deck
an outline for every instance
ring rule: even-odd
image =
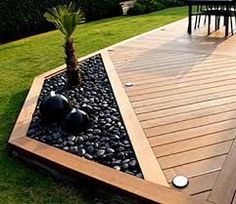
[[[177,21],[186,14],[184,7],[171,8],[79,25],[74,34],[77,57]],[[0,46],[0,203],[93,203],[93,195],[66,187],[6,153],[10,132],[33,78],[62,65],[63,52],[63,37],[58,31]]]

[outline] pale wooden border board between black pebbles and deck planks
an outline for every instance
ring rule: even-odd
[[[101,52],[101,55],[144,178],[148,181],[169,187],[166,177],[138,121],[108,52],[104,50]]]

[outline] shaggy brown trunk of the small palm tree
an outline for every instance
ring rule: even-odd
[[[73,40],[67,39],[65,43],[65,54],[66,54],[66,74],[68,78],[68,83],[71,86],[76,86],[80,84],[80,70],[79,64],[75,56],[75,50],[73,46]]]

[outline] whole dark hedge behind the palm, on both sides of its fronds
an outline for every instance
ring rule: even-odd
[[[48,8],[71,0],[0,0],[0,42],[53,29],[43,14]],[[87,20],[116,16],[119,0],[74,0]]]

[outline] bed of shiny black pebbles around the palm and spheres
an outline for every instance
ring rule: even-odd
[[[27,136],[143,178],[100,55],[80,64],[82,85],[67,88],[65,73],[45,80]],[[90,127],[78,134],[63,131],[61,124],[41,123],[39,104],[51,91],[68,98],[73,108],[89,114]]]

